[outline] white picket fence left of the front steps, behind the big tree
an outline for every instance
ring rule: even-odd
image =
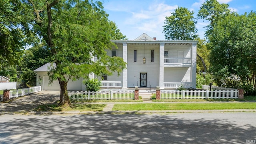
[[[134,90],[68,91],[72,100],[134,99]]]

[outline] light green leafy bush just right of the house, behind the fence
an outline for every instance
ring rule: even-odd
[[[196,88],[202,88],[202,85],[209,85],[212,82],[213,76],[211,74],[196,74]]]

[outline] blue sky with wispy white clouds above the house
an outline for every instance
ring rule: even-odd
[[[194,18],[205,0],[103,0],[104,10],[109,20],[116,23],[120,31],[129,40],[134,40],[142,33],[164,40],[163,26],[166,16],[176,8],[185,7],[194,11]],[[229,4],[229,9],[239,14],[256,11],[256,0],[218,0]],[[207,21],[198,20],[196,27],[200,38],[204,38]]]

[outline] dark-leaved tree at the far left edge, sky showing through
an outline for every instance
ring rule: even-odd
[[[25,16],[22,2],[19,0],[0,1],[0,70],[16,65],[24,49],[24,32],[22,25]],[[2,71],[3,73],[3,71]],[[5,73],[4,73],[5,74]]]

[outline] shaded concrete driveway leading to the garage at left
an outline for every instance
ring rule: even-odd
[[[0,113],[29,112],[41,104],[53,104],[60,100],[60,91],[40,91],[28,96],[0,103]]]

